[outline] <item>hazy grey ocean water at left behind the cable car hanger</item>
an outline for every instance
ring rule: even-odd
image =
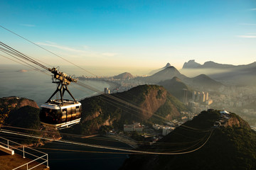
[[[18,72],[21,69],[26,69],[28,72]],[[66,67],[65,70],[68,70],[68,67]],[[68,72],[72,72],[77,76],[84,74],[84,72],[80,71],[78,68],[70,69]],[[0,97],[18,96],[29,98],[36,101],[38,106],[41,106],[41,104],[45,103],[48,98],[50,98],[57,88],[56,84],[52,83],[51,73],[46,73],[49,75],[29,69],[23,65],[0,65]],[[99,91],[104,91],[105,87],[110,87],[110,84],[107,84],[105,81],[81,82]],[[71,83],[68,89],[78,100],[96,94],[95,91],[90,91],[75,83]],[[56,96],[53,96],[53,99],[54,98],[56,98]],[[60,95],[58,95],[58,98],[60,98]],[[71,99],[68,93],[65,93],[64,98]]]

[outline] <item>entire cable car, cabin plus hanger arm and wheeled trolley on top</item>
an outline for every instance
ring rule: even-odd
[[[52,126],[56,129],[68,128],[72,125],[80,123],[82,106],[81,103],[75,100],[73,95],[68,90],[68,85],[71,82],[77,82],[73,77],[68,76],[58,69],[48,69],[53,73],[52,83],[57,84],[57,89],[52,96],[41,105],[40,120],[43,125]],[[70,94],[72,100],[63,99],[65,91]],[[55,94],[60,94],[60,99],[51,100]]]

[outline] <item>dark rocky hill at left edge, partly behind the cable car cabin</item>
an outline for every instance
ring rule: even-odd
[[[6,113],[2,121],[2,125],[4,125],[5,129],[7,128],[16,132],[26,132],[42,137],[50,137],[55,140],[61,138],[58,130],[41,125],[39,119],[40,109],[36,102],[31,99],[18,97],[0,98],[0,108],[2,108],[0,110],[1,114]],[[43,145],[48,142],[36,138],[25,138],[26,137],[24,137],[23,140],[18,140],[18,142],[25,142],[28,145]]]

